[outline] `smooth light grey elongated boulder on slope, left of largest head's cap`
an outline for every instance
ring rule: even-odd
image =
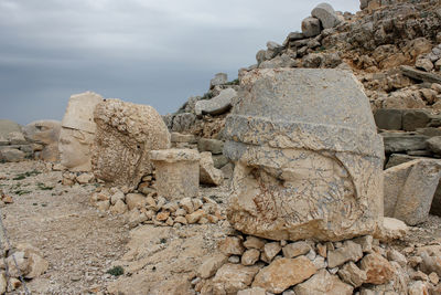
[[[237,96],[233,88],[223,89],[219,95],[212,99],[198,101],[195,106],[196,115],[209,114],[213,116],[222,115],[232,107],[232,101]]]

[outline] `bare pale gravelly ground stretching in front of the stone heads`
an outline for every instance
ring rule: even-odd
[[[39,247],[50,264],[28,282],[32,294],[192,294],[198,266],[234,234],[226,221],[130,230],[127,215],[89,203],[94,185],[62,186],[62,172],[37,161],[0,167],[1,189],[13,199],[1,209],[11,243]],[[228,186],[202,188],[201,194],[225,206]],[[390,245],[402,251],[439,242],[441,218],[430,215]],[[123,275],[108,274],[114,266],[122,266]]]

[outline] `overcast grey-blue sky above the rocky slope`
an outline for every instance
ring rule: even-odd
[[[0,118],[62,119],[68,97],[85,91],[173,113],[215,73],[236,78],[320,2],[0,0]]]

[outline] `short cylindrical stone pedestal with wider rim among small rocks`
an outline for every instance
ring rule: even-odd
[[[197,197],[201,159],[197,150],[152,150],[150,159],[157,169],[158,194],[168,200]]]

